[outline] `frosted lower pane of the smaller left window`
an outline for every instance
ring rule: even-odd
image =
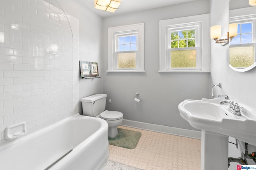
[[[135,68],[136,53],[119,53],[118,68]]]

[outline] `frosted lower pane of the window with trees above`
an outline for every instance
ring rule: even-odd
[[[171,51],[172,68],[196,68],[196,50]]]

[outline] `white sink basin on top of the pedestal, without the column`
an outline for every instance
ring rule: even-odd
[[[184,100],[178,106],[180,115],[192,127],[231,136],[256,145],[256,112],[241,105],[241,116],[228,111],[229,104],[222,99]]]

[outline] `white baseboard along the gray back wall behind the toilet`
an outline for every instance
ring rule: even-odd
[[[190,137],[190,138],[201,140],[201,131],[194,131],[194,130],[190,130],[190,129],[181,129],[181,128],[177,128],[177,127],[156,125],[156,124],[152,124],[152,123],[144,123],[144,122],[132,121],[132,120],[126,120],[126,119],[123,119],[121,125],[127,126],[127,127],[134,127],[134,128],[138,128],[138,129],[149,130],[149,131],[160,132],[160,133],[167,133],[170,135]]]

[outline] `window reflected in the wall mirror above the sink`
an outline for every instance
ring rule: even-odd
[[[230,65],[247,68],[255,62],[255,21],[256,16],[232,17],[230,23],[238,23],[238,34],[230,42]]]

